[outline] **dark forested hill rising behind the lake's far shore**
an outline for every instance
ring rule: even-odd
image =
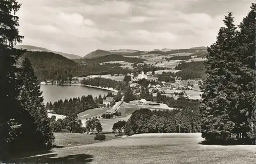
[[[87,75],[132,73],[130,69],[111,67],[97,63],[79,65],[75,61],[53,52],[27,51],[20,59],[19,63],[25,57],[30,59],[35,69],[35,74],[40,80],[62,79],[69,76],[85,77]]]

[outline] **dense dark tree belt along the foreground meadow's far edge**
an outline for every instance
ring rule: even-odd
[[[200,132],[198,108],[191,110],[151,111],[141,108],[135,111],[124,127],[125,135],[140,133]]]

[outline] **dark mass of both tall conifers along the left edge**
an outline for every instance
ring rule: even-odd
[[[0,1],[0,161],[10,152],[41,149],[54,140],[45,117],[47,111],[37,90],[38,83],[34,83],[36,79],[28,81],[17,76],[26,72],[24,68],[20,72],[16,67],[19,57],[25,52],[14,48],[23,39],[15,16],[19,8],[20,4],[15,0]],[[31,88],[25,84],[30,84]],[[23,101],[25,99],[29,100],[28,104]]]

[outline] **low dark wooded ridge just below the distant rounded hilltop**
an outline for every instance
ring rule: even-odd
[[[128,57],[123,57],[121,54],[109,54],[107,56],[103,57],[97,57],[93,59],[86,59],[86,62],[88,63],[104,63],[104,62],[116,62],[116,61],[124,61],[124,62],[129,62],[129,63],[143,63],[143,59],[138,59],[138,58],[128,58]]]

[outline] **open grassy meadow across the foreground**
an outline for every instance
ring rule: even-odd
[[[11,163],[255,163],[255,146],[201,145],[200,133],[138,134],[90,145],[55,148]],[[10,162],[7,162],[10,163]]]

